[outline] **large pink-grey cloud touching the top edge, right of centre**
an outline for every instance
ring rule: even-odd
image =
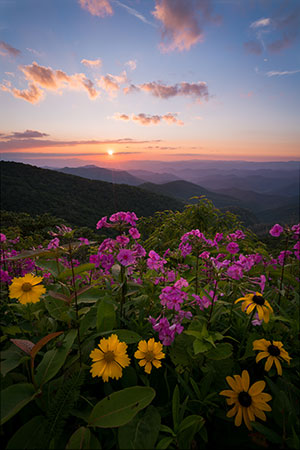
[[[216,23],[211,0],[156,0],[153,16],[161,22],[162,51],[189,50],[204,40],[204,25]]]

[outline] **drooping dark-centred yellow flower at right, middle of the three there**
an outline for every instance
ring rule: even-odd
[[[265,364],[265,370],[268,372],[273,363],[275,363],[278,375],[282,375],[280,360],[284,359],[289,364],[292,359],[288,352],[284,350],[282,342],[279,341],[258,339],[253,342],[253,350],[261,350],[256,356],[256,362],[259,362],[263,358],[268,358]]]

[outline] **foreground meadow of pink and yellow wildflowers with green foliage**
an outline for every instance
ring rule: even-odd
[[[300,224],[198,198],[48,228],[1,233],[7,450],[299,448]]]

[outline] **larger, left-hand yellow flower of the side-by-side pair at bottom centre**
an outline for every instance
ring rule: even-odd
[[[90,354],[94,361],[90,370],[92,377],[102,377],[103,381],[121,378],[122,369],[130,363],[127,344],[120,342],[118,336],[112,334],[108,339],[101,339],[98,347],[100,350],[95,348]]]

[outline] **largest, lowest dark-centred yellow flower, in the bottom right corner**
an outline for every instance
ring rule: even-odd
[[[228,405],[234,405],[227,413],[227,417],[233,417],[234,424],[239,427],[244,419],[248,430],[252,430],[251,423],[255,421],[255,416],[261,420],[266,420],[264,411],[271,411],[271,407],[266,403],[272,399],[270,394],[263,392],[266,383],[257,381],[250,387],[250,377],[247,370],[243,370],[242,376],[234,375],[226,377],[226,381],[232,388],[232,391],[225,390],[220,395],[228,397]]]

